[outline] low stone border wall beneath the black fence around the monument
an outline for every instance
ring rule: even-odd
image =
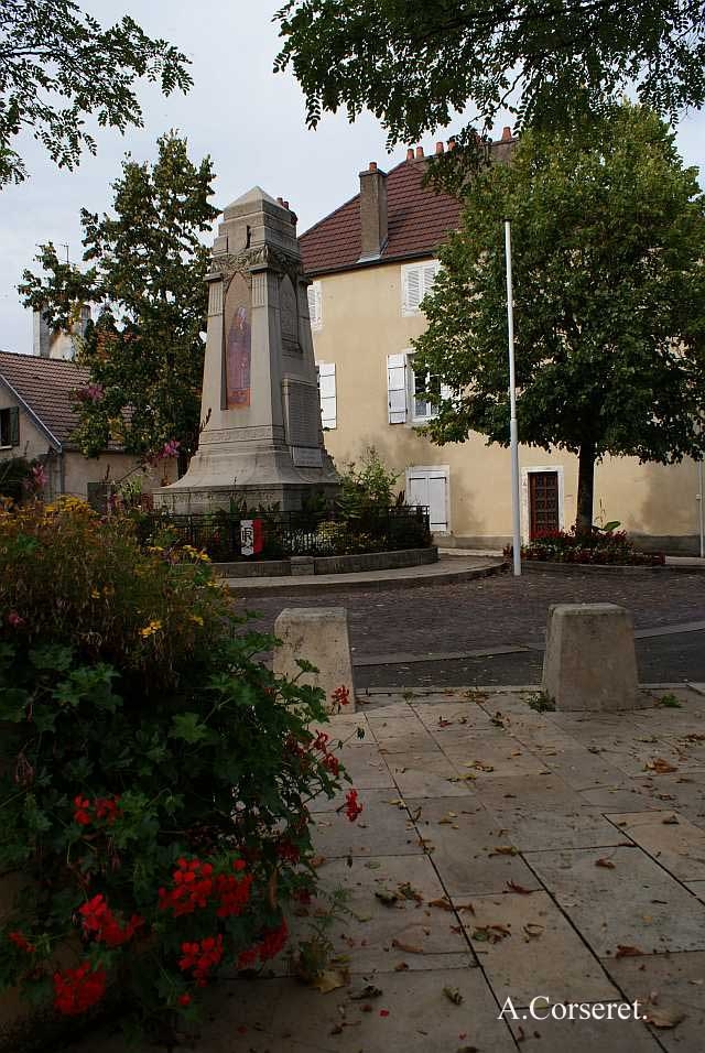
[[[223,577],[288,577],[294,574],[350,574],[360,571],[390,571],[395,567],[426,566],[438,562],[438,550],[402,549],[398,552],[360,552],[341,556],[296,556],[291,560],[265,560],[252,563],[214,563]]]

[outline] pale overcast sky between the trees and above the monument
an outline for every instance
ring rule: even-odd
[[[290,75],[272,73],[278,52],[273,12],[282,0],[79,0],[104,24],[131,14],[153,36],[176,44],[192,59],[194,87],[187,96],[163,98],[150,85],[140,88],[144,128],[126,138],[98,129],[98,155],[86,155],[73,173],[47,161],[29,138],[21,144],[30,178],[0,191],[0,348],[31,351],[31,316],[20,304],[17,284],[40,242],[80,259],[82,207],[109,208],[109,184],[129,150],[139,161],[155,156],[155,141],[171,128],[185,134],[189,155],[210,154],[218,175],[216,204],[239,197],[254,184],[288,199],[304,231],[359,188],[358,173],[369,161],[381,167],[403,160],[402,146],[389,156],[379,122],[364,115],[349,124],[344,115],[325,117],[307,131],[302,93]],[[426,152],[441,130],[422,143]],[[498,129],[501,131],[501,129]],[[677,142],[682,155],[705,180],[705,113],[684,118]],[[415,145],[415,144],[413,144]]]

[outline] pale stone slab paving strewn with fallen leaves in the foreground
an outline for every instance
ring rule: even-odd
[[[352,825],[339,801],[313,803],[323,887],[347,892],[328,933],[333,989],[297,983],[284,960],[226,978],[186,1049],[703,1050],[705,685],[677,704],[642,692],[625,714],[529,702],[406,692],[334,718],[365,811]],[[291,920],[294,944],[318,913]],[[538,996],[607,1008],[534,1020]],[[507,998],[518,1019],[498,1019]],[[617,1018],[634,999],[652,1023]],[[104,1034],[78,1050],[123,1044]]]

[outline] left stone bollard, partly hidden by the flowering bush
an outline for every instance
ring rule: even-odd
[[[345,687],[349,702],[341,713],[355,713],[352,662],[348,637],[348,612],[345,607],[286,607],[274,622],[274,636],[282,641],[274,649],[273,669],[276,676],[322,687],[326,693],[326,708],[337,713],[333,693]],[[317,673],[302,673],[296,659],[306,659],[317,666]]]

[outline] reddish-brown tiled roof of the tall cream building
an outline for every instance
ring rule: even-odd
[[[459,203],[423,186],[426,163],[403,161],[387,176],[388,241],[380,262],[431,256],[457,227]],[[360,258],[360,195],[299,239],[308,275],[355,267]]]

